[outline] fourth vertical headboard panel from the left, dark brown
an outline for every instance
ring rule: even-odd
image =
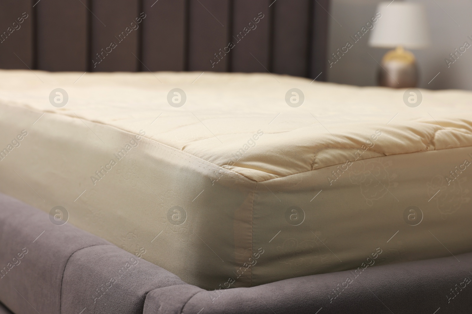
[[[185,71],[187,1],[143,0],[142,71]],[[142,11],[141,11],[142,12]]]

